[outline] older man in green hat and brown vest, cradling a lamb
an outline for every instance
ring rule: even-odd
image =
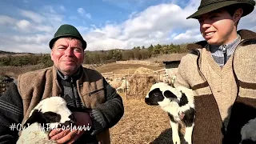
[[[54,66],[18,76],[0,97],[0,143],[15,143],[18,130],[12,123],[24,124],[30,111],[43,98],[60,96],[73,111],[77,126],[85,130],[52,130],[50,139],[58,143],[110,143],[109,128],[124,113],[122,98],[95,70],[82,67],[86,41],[71,25],[62,25],[50,41]]]

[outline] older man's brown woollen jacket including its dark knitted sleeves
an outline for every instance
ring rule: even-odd
[[[0,97],[0,143],[17,141],[18,130],[10,130],[9,126],[12,123],[23,124],[30,110],[42,98],[62,96],[62,88],[57,78],[54,67],[28,72],[18,77],[18,86],[12,84],[6,90]],[[102,138],[109,141],[108,128],[114,126],[124,112],[122,98],[95,70],[83,68],[82,77],[76,81],[76,87],[83,106],[90,110],[94,124],[93,134],[97,134],[98,141],[102,141]]]

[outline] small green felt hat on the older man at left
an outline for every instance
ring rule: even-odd
[[[66,38],[66,37],[72,37],[77,38],[82,42],[82,49],[86,49],[86,41],[82,38],[82,35],[79,33],[79,31],[71,25],[64,24],[58,28],[56,33],[54,34],[54,38],[50,40],[49,46],[50,49],[52,49],[54,42],[58,40],[58,38]]]

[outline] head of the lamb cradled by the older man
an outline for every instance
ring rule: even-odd
[[[74,115],[66,106],[66,101],[61,97],[45,98],[38,103],[30,112],[30,117],[26,120],[24,126],[38,122],[42,125],[48,125],[50,129],[62,125],[74,123]]]

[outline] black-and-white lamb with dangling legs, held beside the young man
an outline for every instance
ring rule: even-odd
[[[189,144],[192,143],[192,132],[194,129],[194,94],[186,87],[174,88],[165,82],[155,83],[146,95],[145,102],[151,106],[161,106],[170,117],[170,126],[172,129],[172,138],[174,144],[180,144],[178,135],[178,123],[185,124],[186,133],[184,139]]]

